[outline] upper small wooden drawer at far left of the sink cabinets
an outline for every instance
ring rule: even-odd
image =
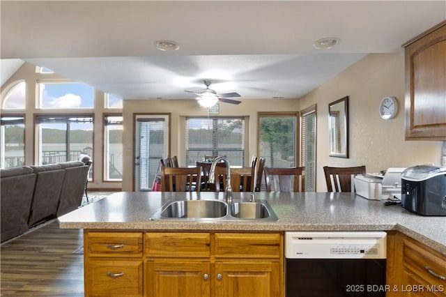
[[[89,256],[142,257],[142,232],[89,232]]]

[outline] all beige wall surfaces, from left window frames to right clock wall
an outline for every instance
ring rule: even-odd
[[[397,54],[369,54],[339,75],[325,82],[301,99],[294,100],[242,100],[240,105],[220,105],[220,116],[248,116],[249,139],[247,155],[257,154],[257,112],[299,111],[317,104],[317,178],[316,190],[326,191],[323,166],[366,165],[367,172],[378,172],[388,167],[410,167],[424,163],[440,165],[441,142],[404,140],[404,61],[403,51]],[[26,100],[26,165],[33,164],[33,116],[42,111],[34,107],[36,79],[47,75],[36,74],[35,66],[25,63],[17,73],[1,87],[4,91],[13,82],[25,79],[28,85]],[[59,75],[52,75],[61,79]],[[328,156],[328,103],[349,96],[350,107],[350,158]],[[399,113],[392,120],[380,119],[378,105],[385,96],[394,96],[399,102]],[[94,181],[89,188],[121,188],[121,183],[102,182],[102,114],[121,112],[107,110],[103,105],[103,93],[96,92],[95,109],[82,110],[95,114],[94,131]],[[44,111],[61,112],[57,110]],[[66,112],[66,111],[63,111]],[[2,112],[3,114],[16,112]],[[124,116],[124,168],[123,190],[133,189],[133,114],[171,113],[171,151],[177,155],[180,165],[185,164],[183,116],[206,116],[206,109],[199,107],[195,100],[125,100]]]

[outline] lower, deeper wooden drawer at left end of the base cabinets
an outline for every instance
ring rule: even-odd
[[[136,260],[89,261],[89,296],[143,296],[143,264]]]

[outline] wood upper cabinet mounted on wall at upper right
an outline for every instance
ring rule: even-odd
[[[403,47],[406,139],[446,140],[446,21]]]

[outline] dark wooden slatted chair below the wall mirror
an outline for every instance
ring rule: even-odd
[[[365,175],[365,166],[323,167],[328,192],[352,192],[352,175]],[[334,188],[334,190],[333,190]]]

